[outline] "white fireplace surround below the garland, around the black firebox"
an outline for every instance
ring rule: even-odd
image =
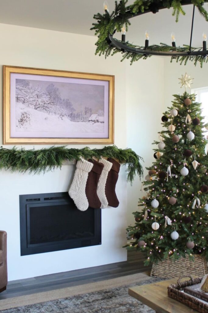
[[[69,249],[41,254],[20,256],[19,195],[62,192],[69,189],[75,165],[65,165],[61,170],[45,175],[29,175],[1,172],[4,192],[2,194],[4,211],[1,227],[7,230],[7,262],[9,280],[16,280],[101,264],[124,261],[126,250],[126,173],[121,168],[116,187],[121,204],[118,208],[102,210],[102,244],[98,246]],[[2,185],[2,184],[1,184]],[[2,226],[3,225],[3,226]]]

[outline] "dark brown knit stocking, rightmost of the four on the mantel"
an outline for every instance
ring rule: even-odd
[[[119,200],[116,196],[115,187],[119,178],[120,164],[111,158],[108,158],[108,161],[112,163],[112,167],[108,173],[105,184],[105,195],[108,200],[108,205],[117,208],[119,206]]]

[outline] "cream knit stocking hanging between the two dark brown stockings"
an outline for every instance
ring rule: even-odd
[[[107,206],[108,206],[108,200],[105,196],[105,184],[106,184],[106,180],[108,177],[108,173],[109,173],[113,164],[111,162],[108,162],[105,159],[100,159],[99,162],[104,164],[104,168],[103,168],[103,171],[102,171],[100,178],[99,178],[97,195],[98,195],[98,198],[101,202],[100,208],[104,209],[104,208],[107,208]]]

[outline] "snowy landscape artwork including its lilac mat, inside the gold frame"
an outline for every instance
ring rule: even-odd
[[[109,81],[17,73],[10,80],[12,138],[109,138]]]

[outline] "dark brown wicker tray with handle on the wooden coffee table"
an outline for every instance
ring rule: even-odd
[[[188,276],[183,276],[188,277]],[[167,295],[175,300],[182,302],[185,305],[188,305],[191,309],[197,310],[201,313],[208,312],[208,303],[205,304],[204,302],[198,300],[197,298],[193,298],[192,296],[182,292],[184,287],[192,286],[195,284],[201,283],[201,278],[192,278],[191,275],[189,276],[191,280],[186,280],[181,282],[181,278],[178,279],[177,284],[170,285],[167,287]],[[182,313],[182,312],[181,312]]]

